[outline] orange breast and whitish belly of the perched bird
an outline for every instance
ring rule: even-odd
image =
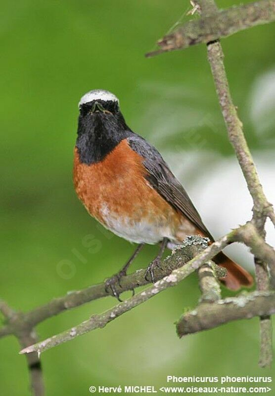
[[[183,215],[150,186],[146,173],[142,158],[126,139],[103,161],[91,165],[80,163],[75,148],[75,189],[94,218],[134,242],[141,241],[142,236],[145,243],[156,243],[163,237],[182,239]]]

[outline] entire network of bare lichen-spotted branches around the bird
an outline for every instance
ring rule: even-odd
[[[61,298],[56,298],[48,304],[24,314],[14,313],[5,303],[1,303],[0,309],[7,319],[7,324],[0,329],[0,337],[9,334],[15,335],[23,346],[23,350],[20,353],[27,353],[28,357],[31,357],[29,359],[29,365],[31,368],[37,370],[31,376],[32,382],[37,384],[35,391],[37,392],[35,393],[37,396],[43,395],[44,392],[41,372],[38,370],[40,364],[39,353],[91,330],[104,327],[110,321],[147,301],[162,290],[178,284],[195,270],[199,270],[198,275],[202,291],[202,302],[195,311],[183,315],[183,318],[177,325],[179,335],[182,336],[184,334],[210,329],[230,320],[260,316],[261,364],[262,366],[266,366],[271,363],[272,328],[269,316],[275,313],[275,294],[274,292],[267,291],[269,288],[269,277],[265,263],[269,266],[272,283],[275,285],[275,252],[265,242],[264,226],[267,216],[270,217],[275,225],[275,214],[272,205],[267,201],[263,192],[242,131],[242,123],[238,118],[231,100],[223,63],[224,55],[217,39],[251,26],[275,20],[275,0],[262,0],[257,3],[246,4],[222,11],[217,9],[213,0],[197,0],[197,2],[199,4],[197,8],[203,14],[202,18],[188,22],[174,34],[166,36],[159,43],[162,46],[160,52],[182,49],[200,42],[208,43],[208,60],[227,125],[229,140],[234,147],[248,189],[253,198],[253,219],[251,222],[233,230],[224,238],[208,246],[197,255],[196,252],[199,250],[199,245],[203,239],[203,243],[205,244],[205,238],[187,238],[184,241],[183,250],[176,250],[171,257],[168,257],[162,263],[163,270],[156,271],[156,279],[158,281],[155,284],[114,308],[100,315],[93,315],[89,320],[80,325],[42,342],[34,343],[37,341],[35,334],[32,332],[35,325],[64,310],[109,295],[105,291],[104,283],[72,292]],[[246,296],[221,300],[220,285],[216,279],[216,277],[221,277],[221,274],[216,273],[217,267],[214,264],[208,263],[204,265],[204,263],[213,258],[226,245],[233,241],[245,243],[255,255],[258,290]],[[124,277],[121,281],[121,292],[149,283],[144,279],[144,275],[145,270],[140,270],[135,274]]]

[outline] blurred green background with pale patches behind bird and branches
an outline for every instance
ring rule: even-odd
[[[77,104],[91,89],[120,98],[130,127],[163,153],[216,236],[248,219],[251,201],[234,165],[205,46],[144,57],[190,9],[188,1],[19,0],[2,1],[1,9],[0,296],[12,307],[29,310],[101,282],[133,251],[88,216],[73,189]],[[266,25],[223,40],[233,98],[270,195],[274,35],[275,26]],[[238,182],[230,179],[231,166]],[[240,190],[244,198],[238,202]],[[234,204],[228,214],[229,191]],[[221,203],[218,216],[215,199]],[[238,210],[243,203],[245,214]],[[227,216],[235,216],[233,223]],[[96,251],[89,251],[87,235],[97,240]],[[134,268],[145,267],[156,250],[148,246]],[[246,249],[233,255],[253,270]],[[193,275],[104,329],[47,351],[46,394],[88,395],[91,385],[158,387],[167,375],[271,375],[257,366],[257,319],[177,338],[173,323],[198,297]],[[38,326],[39,336],[66,330],[113,304],[110,297],[51,318]],[[25,358],[18,351],[15,338],[0,340],[1,395],[29,394]]]

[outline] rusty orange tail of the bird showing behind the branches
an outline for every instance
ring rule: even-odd
[[[231,290],[238,290],[241,286],[251,287],[254,283],[252,275],[250,275],[240,265],[234,263],[223,252],[214,257],[216,264],[225,267],[228,270],[227,276],[222,280]]]

